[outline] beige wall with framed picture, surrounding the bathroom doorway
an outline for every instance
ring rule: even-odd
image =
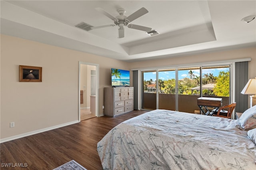
[[[78,61],[100,66],[100,115],[111,68],[129,69],[124,61],[6,35],[1,35],[0,54],[1,139],[78,120]],[[42,67],[42,82],[19,82],[19,65]]]

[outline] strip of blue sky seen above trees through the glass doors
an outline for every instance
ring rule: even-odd
[[[178,79],[183,79],[185,77],[190,78],[190,76],[188,75],[188,71],[190,71],[191,69],[188,70],[179,70],[178,71]],[[202,75],[208,73],[213,73],[214,76],[218,76],[220,71],[228,71],[229,68],[215,68],[215,69],[202,69],[203,73]],[[192,70],[194,71],[194,75],[196,76],[200,76],[200,69],[195,69]],[[158,72],[158,79],[162,79],[162,80],[168,80],[168,79],[175,79],[175,71],[159,71]],[[144,80],[150,80],[152,79],[153,81],[156,81],[156,72],[145,72],[144,73]]]

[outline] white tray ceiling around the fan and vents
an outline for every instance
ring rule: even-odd
[[[149,12],[131,24],[150,27],[160,34],[125,27],[89,32],[76,28],[114,24],[95,8],[112,16],[124,8],[129,16],[144,7]],[[256,46],[256,0],[1,0],[1,34],[65,47],[124,61],[141,61],[187,54]]]

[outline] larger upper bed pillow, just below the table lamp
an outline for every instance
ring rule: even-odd
[[[239,127],[242,130],[252,128],[256,125],[256,105],[244,111],[239,118]]]

